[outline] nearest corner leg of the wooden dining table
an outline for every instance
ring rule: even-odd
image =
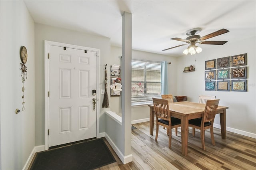
[[[188,154],[188,117],[184,116],[181,119],[181,147],[182,154]]]

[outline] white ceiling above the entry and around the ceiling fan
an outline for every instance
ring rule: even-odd
[[[110,38],[122,44],[122,14],[132,14],[132,48],[181,56],[186,31],[202,28],[205,36],[222,28],[230,32],[209,41],[236,42],[256,32],[255,0],[24,0],[36,23]],[[225,44],[224,44],[225,45]],[[219,45],[198,45],[203,51]]]

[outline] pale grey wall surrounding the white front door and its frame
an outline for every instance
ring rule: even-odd
[[[44,145],[44,40],[80,45],[100,49],[100,89],[105,88],[104,65],[110,65],[110,39],[56,28],[43,24],[35,24],[35,67],[36,67],[36,145]],[[109,68],[110,70],[110,68]],[[98,92],[100,93],[100,92]],[[110,94],[110,91],[108,91]],[[106,109],[102,109],[103,96],[100,96],[100,132],[105,131]],[[108,109],[107,109],[108,110]]]

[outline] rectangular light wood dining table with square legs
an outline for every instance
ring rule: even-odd
[[[148,105],[150,108],[150,135],[154,130],[154,105]],[[189,101],[169,103],[170,114],[172,117],[181,120],[181,146],[182,154],[188,154],[188,120],[203,117],[205,104]],[[216,114],[220,114],[220,129],[222,139],[226,138],[226,106],[218,106]]]

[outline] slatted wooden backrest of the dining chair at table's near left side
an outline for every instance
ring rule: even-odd
[[[156,121],[164,119],[170,123],[170,110],[168,100],[153,98]]]

